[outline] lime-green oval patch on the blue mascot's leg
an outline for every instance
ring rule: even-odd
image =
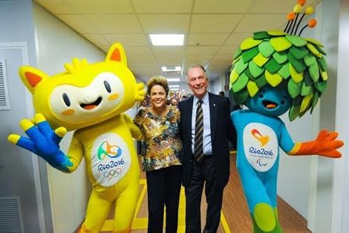
[[[271,232],[276,227],[273,208],[266,203],[256,204],[253,216],[255,217],[255,223],[264,232]]]

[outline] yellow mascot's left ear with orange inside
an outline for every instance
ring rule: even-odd
[[[19,72],[22,82],[28,88],[31,94],[34,93],[34,90],[40,82],[49,77],[46,73],[43,73],[43,71],[31,66],[22,66]]]

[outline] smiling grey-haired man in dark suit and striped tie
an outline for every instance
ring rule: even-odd
[[[228,140],[235,143],[229,99],[207,92],[209,80],[201,65],[188,69],[193,96],[179,102],[183,143],[183,185],[186,191],[186,232],[201,232],[200,202],[205,184],[207,218],[204,232],[216,232],[223,189],[229,179]]]

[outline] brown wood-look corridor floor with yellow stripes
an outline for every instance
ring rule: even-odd
[[[223,195],[223,208],[221,214],[221,223],[218,233],[251,233],[252,223],[242,186],[239,181],[237,169],[235,169],[235,155],[231,155],[230,159],[230,180],[225,187]],[[144,173],[141,174],[140,184],[140,200],[138,209],[136,210],[135,220],[133,221],[133,230],[131,232],[144,233],[147,232],[147,187],[145,185]],[[185,199],[184,190],[181,192],[181,201],[179,204],[179,227],[178,232],[184,232],[185,224]],[[279,197],[278,199],[279,220],[285,233],[307,233],[311,232],[306,228],[306,220],[292,209],[286,202]],[[202,197],[202,229],[205,224],[206,202],[205,196]],[[102,232],[109,233],[112,230],[113,211],[110,213],[109,219],[103,226]]]

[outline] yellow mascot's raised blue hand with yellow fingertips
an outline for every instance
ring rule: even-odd
[[[52,130],[45,117],[38,113],[34,117],[35,124],[24,119],[20,127],[29,136],[26,138],[17,134],[8,136],[8,141],[42,157],[46,162],[61,171],[69,171],[68,167],[73,166],[68,157],[59,150],[59,142],[66,134],[64,127]]]

